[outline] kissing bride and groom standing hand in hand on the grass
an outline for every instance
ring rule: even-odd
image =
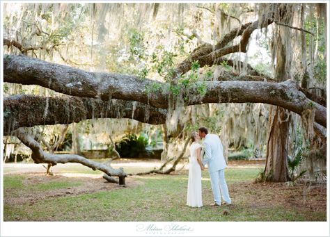
[[[199,142],[204,138],[203,145]],[[231,205],[228,187],[225,179],[225,167],[223,147],[217,134],[208,134],[205,127],[198,129],[198,132],[191,133],[192,144],[189,156],[189,178],[187,190],[187,206],[201,207],[202,201],[202,170],[210,174],[214,203],[211,206]],[[201,158],[203,157],[203,159]]]

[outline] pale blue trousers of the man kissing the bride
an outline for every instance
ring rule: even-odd
[[[225,179],[225,169],[210,173],[210,178],[214,195],[214,202],[220,205],[222,197],[223,202],[231,204],[231,199],[229,197],[228,187]]]

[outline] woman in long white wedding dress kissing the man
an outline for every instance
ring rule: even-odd
[[[192,144],[189,156],[189,177],[187,190],[187,205],[192,207],[203,206],[202,202],[202,172],[204,167],[201,162],[202,147],[198,143],[201,138],[196,131],[191,133]]]

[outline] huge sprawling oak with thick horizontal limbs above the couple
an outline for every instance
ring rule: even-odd
[[[320,125],[326,127],[327,108],[324,104],[319,104],[320,100],[317,100],[317,97],[301,89],[297,81],[281,76],[280,73],[276,74],[276,79],[269,79],[268,76],[262,74],[257,76],[242,74],[239,76],[239,81],[233,76],[233,80],[200,81],[189,87],[180,83],[180,78],[191,70],[194,62],[198,62],[201,67],[207,67],[207,65],[217,65],[223,61],[230,62],[224,57],[228,54],[246,52],[251,33],[269,24],[281,24],[283,9],[285,8],[281,4],[270,3],[267,10],[255,22],[233,29],[217,44],[201,44],[177,65],[172,79],[166,83],[124,74],[86,72],[23,55],[5,55],[3,58],[4,82],[40,85],[65,96],[5,97],[3,100],[4,135],[14,135],[22,140],[31,148],[32,158],[36,163],[52,165],[68,162],[82,163],[94,170],[102,170],[106,174],[104,178],[115,181],[111,176],[121,177],[122,180],[126,177],[123,170],[115,170],[107,165],[88,161],[82,156],[45,154],[38,142],[29,133],[24,132],[23,128],[45,124],[70,124],[103,117],[132,118],[149,124],[164,124],[167,113],[171,113],[168,105],[175,104],[178,100],[183,101],[182,106],[208,103],[264,103],[279,106],[299,115],[313,110],[315,111],[315,127],[318,128]],[[283,27],[292,28],[290,22]],[[295,29],[304,31],[302,28]],[[240,38],[239,42],[233,44],[236,38]],[[26,54],[26,51],[30,49],[14,40],[4,40],[3,43],[8,47],[17,47],[22,54]],[[281,49],[278,50],[279,53],[282,52]],[[237,63],[242,62],[235,62],[233,65]],[[281,63],[278,63],[279,67]],[[180,90],[178,94],[173,94],[171,90],[173,86]],[[201,86],[203,92],[198,90]],[[149,90],[150,88],[153,89]],[[276,113],[276,115],[281,116],[281,113]],[[275,119],[278,118],[272,118],[272,120]],[[281,119],[285,120],[285,117]],[[278,132],[274,135],[278,136]],[[278,139],[276,141],[278,142]],[[273,144],[268,147],[272,150],[272,156],[283,153],[285,149],[285,145],[276,148],[274,142],[269,144]],[[281,165],[282,168],[283,165]],[[276,181],[281,181],[281,179]]]

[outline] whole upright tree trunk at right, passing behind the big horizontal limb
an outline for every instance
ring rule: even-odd
[[[282,15],[286,24],[290,23],[293,16],[288,15],[288,5],[283,4]],[[286,17],[286,18],[285,18]],[[290,52],[290,44],[287,42],[290,38],[288,28],[277,28],[278,36],[274,38],[275,50],[273,55],[276,58],[275,79],[283,81],[290,77],[291,58],[287,52]],[[288,136],[290,112],[280,108],[270,106],[269,128],[267,136],[267,156],[265,166],[265,177],[267,181],[285,182],[288,177]]]

